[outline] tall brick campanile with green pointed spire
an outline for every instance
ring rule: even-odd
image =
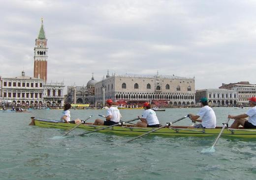
[[[47,58],[48,58],[48,48],[47,39],[44,32],[43,18],[41,19],[42,24],[38,34],[35,39],[34,47],[34,77],[43,79],[47,82]]]

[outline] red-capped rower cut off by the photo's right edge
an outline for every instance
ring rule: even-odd
[[[245,114],[227,116],[227,118],[235,120],[230,128],[238,129],[238,127],[241,125],[245,129],[256,129],[256,97],[249,98],[249,106],[252,108],[250,108]],[[245,118],[248,118],[248,120]]]

